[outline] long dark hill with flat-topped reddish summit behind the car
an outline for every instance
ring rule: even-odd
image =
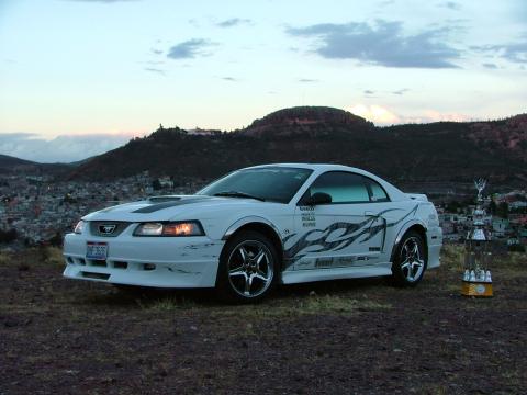
[[[495,185],[525,185],[527,115],[375,127],[337,109],[293,108],[232,133],[190,135],[178,127],[160,128],[80,165],[69,178],[114,179],[149,170],[176,179],[211,179],[280,161],[349,165],[399,183],[486,177]]]

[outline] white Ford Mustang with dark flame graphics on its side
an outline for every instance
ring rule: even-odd
[[[82,217],[65,237],[64,275],[256,301],[278,283],[391,275],[415,285],[439,266],[441,242],[425,195],[346,166],[266,165],[194,195]]]

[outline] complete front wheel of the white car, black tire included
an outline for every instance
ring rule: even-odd
[[[259,232],[242,230],[220,257],[216,290],[227,302],[255,303],[276,286],[280,272],[277,249]]]

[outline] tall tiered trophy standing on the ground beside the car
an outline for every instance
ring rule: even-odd
[[[464,296],[492,296],[492,278],[490,263],[492,260],[491,234],[485,226],[485,210],[483,208],[483,190],[486,180],[474,181],[478,190],[475,208],[472,212],[471,229],[464,241],[464,274],[461,294]]]

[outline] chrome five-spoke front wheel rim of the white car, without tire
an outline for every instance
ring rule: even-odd
[[[231,252],[227,260],[228,282],[240,296],[261,295],[271,285],[274,261],[267,246],[258,240],[244,240]]]

